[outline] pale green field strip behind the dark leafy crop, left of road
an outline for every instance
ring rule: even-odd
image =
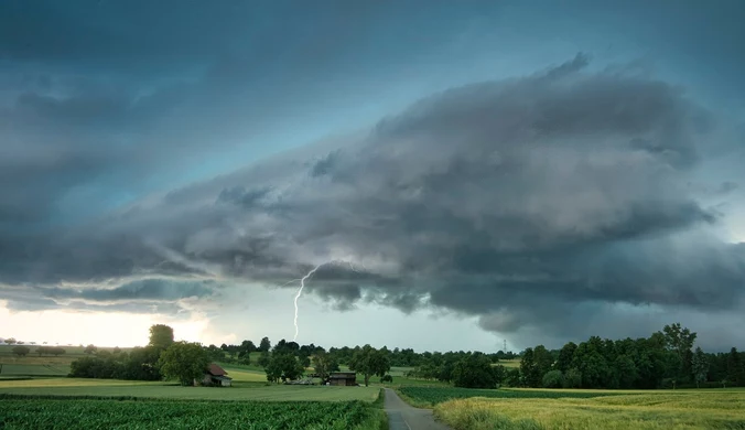
[[[245,384],[245,385],[244,385]],[[0,396],[75,396],[112,398],[170,398],[191,400],[256,400],[256,401],[352,401],[372,402],[379,388],[325,387],[238,383],[234,387],[181,387],[163,383],[115,379],[52,378],[0,380]]]

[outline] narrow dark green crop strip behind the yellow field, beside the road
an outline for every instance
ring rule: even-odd
[[[557,390],[520,390],[520,389],[468,389],[452,387],[401,387],[399,391],[414,402],[436,405],[453,399],[471,397],[488,397],[504,399],[558,399],[591,398],[614,396],[614,393],[602,391],[557,391]]]

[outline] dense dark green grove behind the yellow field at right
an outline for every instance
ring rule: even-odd
[[[515,387],[552,388],[677,388],[745,386],[745,356],[692,351],[697,333],[679,323],[666,325],[648,338],[620,341],[590,337],[570,342],[560,351],[543,345],[522,353],[520,374],[510,375]],[[547,378],[547,376],[549,376]]]

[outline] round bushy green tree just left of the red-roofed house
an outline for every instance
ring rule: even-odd
[[[177,379],[181,385],[193,385],[194,379],[201,378],[209,359],[198,343],[174,342],[161,353],[158,367],[168,379]]]

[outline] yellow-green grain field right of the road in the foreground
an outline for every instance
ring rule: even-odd
[[[745,429],[743,389],[627,391],[591,398],[560,394],[564,397],[456,399],[436,405],[434,415],[456,430]]]

